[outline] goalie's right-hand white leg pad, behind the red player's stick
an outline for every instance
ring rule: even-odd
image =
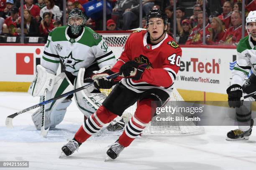
[[[84,83],[84,68],[80,68],[77,78],[74,82],[74,88],[77,89],[89,83]],[[90,93],[94,90],[94,86],[89,89],[84,89],[74,93],[74,98],[79,110],[86,116],[89,117],[94,113],[105,100],[105,95],[102,93]]]

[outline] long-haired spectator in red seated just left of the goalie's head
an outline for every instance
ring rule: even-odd
[[[54,29],[54,20],[51,19],[51,13],[45,12],[39,26],[40,33],[44,37],[47,37],[52,29]]]

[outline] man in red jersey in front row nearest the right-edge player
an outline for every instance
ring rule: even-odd
[[[242,37],[242,13],[241,11],[233,11],[231,14],[232,27],[228,28],[225,35],[220,40],[220,44],[236,45]],[[247,32],[245,32],[245,36]]]

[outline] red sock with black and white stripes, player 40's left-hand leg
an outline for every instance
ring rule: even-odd
[[[97,133],[106,123],[111,122],[117,115],[100,106],[79,128],[74,138],[79,143],[84,143],[91,135]]]

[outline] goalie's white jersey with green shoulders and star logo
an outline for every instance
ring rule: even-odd
[[[115,55],[102,37],[91,28],[84,27],[76,39],[67,34],[68,26],[57,27],[49,33],[41,65],[56,74],[62,62],[66,71],[77,75],[79,68],[97,63],[100,68],[114,65]]]

